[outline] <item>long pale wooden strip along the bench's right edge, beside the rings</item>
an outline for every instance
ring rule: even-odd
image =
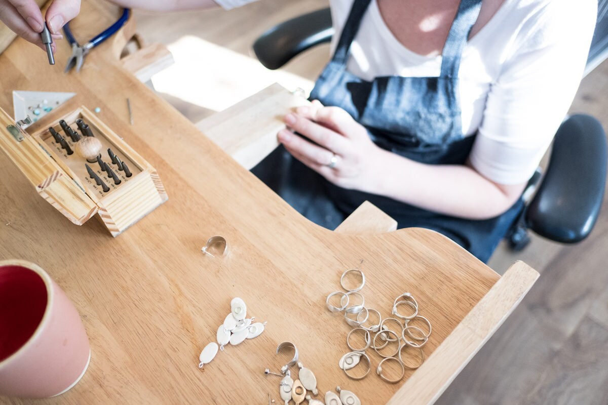
[[[432,404],[522,301],[539,274],[516,262],[407,379],[389,404]]]

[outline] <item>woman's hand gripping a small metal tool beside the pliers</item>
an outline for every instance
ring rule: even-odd
[[[46,12],[46,21],[53,39],[61,39],[61,28],[78,15],[80,0],[54,0]],[[33,0],[0,0],[0,19],[13,32],[41,49],[45,49],[40,33],[45,18]],[[55,52],[55,43],[52,45]]]

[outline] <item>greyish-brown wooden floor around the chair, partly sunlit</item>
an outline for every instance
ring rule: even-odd
[[[178,54],[202,52],[196,55],[201,61],[198,66],[192,66],[187,58],[176,58],[176,66],[165,75],[163,86],[171,89],[173,75],[174,87],[184,87],[184,72],[194,72],[185,77],[188,86],[204,94],[210,86],[205,83],[213,83],[215,93],[209,98],[221,95],[221,105],[197,105],[167,90],[162,94],[182,114],[198,121],[249,95],[243,91],[252,94],[273,78],[282,81],[285,72],[314,80],[328,59],[327,46],[299,56],[283,73],[267,72],[250,60],[243,65],[242,75],[226,78],[222,76],[222,64],[230,60],[235,64],[247,62],[252,42],[265,29],[326,4],[326,0],[260,0],[230,12],[208,10],[165,16],[138,13],[137,18],[139,32],[148,41],[168,44]],[[182,36],[192,36],[190,44],[201,48],[180,49],[176,44]],[[226,58],[216,54],[220,48]],[[213,53],[206,54],[207,49],[213,49]],[[208,72],[219,72],[214,74],[221,77],[206,77]],[[256,72],[263,79],[257,80]],[[592,114],[608,128],[606,94],[608,63],[582,82],[572,112]],[[607,213],[600,216],[591,236],[575,246],[533,236],[523,252],[511,253],[500,247],[489,263],[492,268],[502,273],[514,260],[522,259],[536,268],[541,278],[437,403],[608,404],[607,247]]]

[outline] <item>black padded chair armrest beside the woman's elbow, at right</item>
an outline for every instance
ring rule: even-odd
[[[545,178],[528,205],[528,228],[562,243],[585,239],[598,219],[605,186],[604,129],[590,115],[573,115],[555,135]]]

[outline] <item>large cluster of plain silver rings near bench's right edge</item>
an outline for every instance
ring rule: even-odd
[[[345,277],[350,273],[357,273],[361,276],[361,283],[356,288],[348,288],[345,286]],[[371,370],[371,360],[367,355],[367,350],[372,349],[382,360],[376,367],[376,374],[387,383],[398,383],[403,379],[406,370],[415,370],[424,362],[423,346],[429,341],[432,327],[429,319],[420,315],[418,302],[410,293],[402,293],[395,301],[393,301],[392,316],[382,319],[382,315],[378,310],[365,307],[365,298],[360,292],[365,285],[365,274],[358,268],[350,268],[340,277],[340,286],[344,291],[334,291],[329,294],[325,300],[325,305],[331,312],[344,313],[344,320],[353,329],[347,335],[347,345],[351,352],[346,353],[339,361],[340,369],[351,379],[363,379]],[[330,301],[334,296],[340,297],[340,306],[336,307]],[[353,301],[353,299],[355,301]],[[406,308],[406,309],[404,309]],[[370,314],[373,313],[378,321],[371,324]],[[413,322],[419,321],[423,325],[415,326]],[[371,324],[371,325],[370,325]],[[426,330],[424,330],[426,329]],[[351,343],[351,336],[354,333],[362,333],[364,335],[364,345],[356,347]],[[390,351],[383,350],[385,347],[393,345],[394,349]],[[417,361],[410,364],[404,361],[404,352],[407,350],[417,352]],[[354,369],[361,360],[364,359],[367,364],[365,372],[359,375],[353,375],[351,369]],[[389,378],[382,370],[384,362],[395,362],[401,373],[398,378]]]

